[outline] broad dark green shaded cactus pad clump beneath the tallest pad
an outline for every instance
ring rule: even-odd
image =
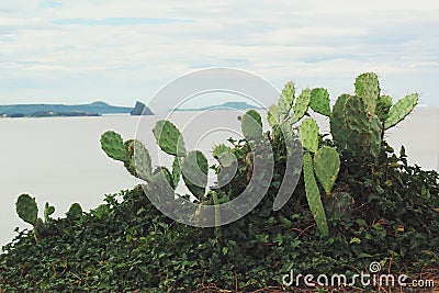
[[[382,126],[376,115],[369,115],[363,100],[342,94],[337,99],[330,119],[330,133],[341,151],[352,157],[371,156],[381,151]]]

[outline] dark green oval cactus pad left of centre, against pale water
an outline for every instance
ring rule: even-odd
[[[198,198],[203,199],[207,187],[209,164],[200,150],[189,151],[181,165],[181,173],[188,189]]]

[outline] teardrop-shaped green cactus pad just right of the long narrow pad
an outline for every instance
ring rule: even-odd
[[[340,156],[333,147],[324,146],[314,155],[314,170],[326,194],[329,195],[340,171]]]

